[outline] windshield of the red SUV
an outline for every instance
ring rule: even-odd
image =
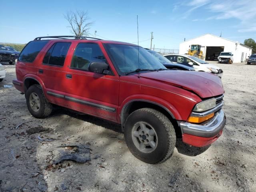
[[[138,48],[137,46],[122,44],[105,44],[105,47],[111,56],[112,62],[121,73],[128,73],[138,68],[148,70],[166,69],[165,66],[142,47]]]

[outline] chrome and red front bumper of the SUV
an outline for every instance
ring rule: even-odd
[[[216,112],[215,116],[205,124],[192,124],[180,122],[182,140],[184,143],[203,147],[213,143],[222,134],[226,123],[223,110]]]

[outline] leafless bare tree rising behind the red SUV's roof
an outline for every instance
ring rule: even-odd
[[[90,26],[93,25],[93,22],[89,22],[90,18],[88,17],[87,11],[68,11],[64,17],[69,23],[68,27],[71,28],[71,32],[76,36],[89,35]]]

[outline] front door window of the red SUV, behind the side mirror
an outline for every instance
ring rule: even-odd
[[[90,62],[106,62],[106,59],[98,44],[80,43],[76,47],[71,62],[71,68],[88,70]]]

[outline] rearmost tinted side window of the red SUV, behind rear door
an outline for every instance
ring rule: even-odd
[[[42,48],[48,43],[48,41],[31,41],[29,42],[25,48],[20,53],[18,58],[19,61],[22,62],[33,62],[38,55],[38,53],[42,50]]]

